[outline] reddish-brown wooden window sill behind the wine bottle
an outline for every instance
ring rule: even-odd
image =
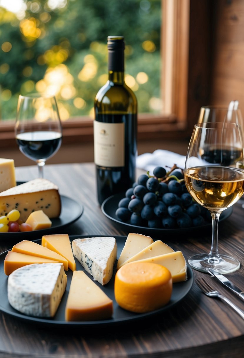
[[[93,120],[89,117],[72,118],[62,122],[63,144],[77,144],[93,141]],[[138,116],[138,141],[145,139],[182,139],[187,131],[175,115]],[[10,147],[16,144],[14,135],[14,120],[0,122],[0,147]]]

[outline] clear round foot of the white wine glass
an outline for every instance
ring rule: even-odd
[[[212,257],[207,253],[202,253],[190,257],[188,262],[192,269],[208,273],[210,273],[210,267],[218,270],[221,274],[229,274],[240,268],[240,262],[236,258],[227,255]]]

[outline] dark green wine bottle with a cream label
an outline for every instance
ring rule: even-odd
[[[123,36],[108,36],[108,81],[94,101],[94,163],[100,205],[135,182],[137,100],[125,84],[124,49]]]

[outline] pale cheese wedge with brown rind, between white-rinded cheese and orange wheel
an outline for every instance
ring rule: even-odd
[[[108,319],[113,314],[113,301],[84,271],[74,271],[65,307],[66,321]]]

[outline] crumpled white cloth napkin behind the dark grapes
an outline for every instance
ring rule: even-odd
[[[152,175],[152,171],[155,166],[172,167],[174,164],[179,168],[184,169],[186,156],[170,152],[169,150],[157,149],[153,153],[144,153],[138,155],[136,159],[136,167],[140,169],[149,170]],[[168,168],[169,169],[169,168]]]

